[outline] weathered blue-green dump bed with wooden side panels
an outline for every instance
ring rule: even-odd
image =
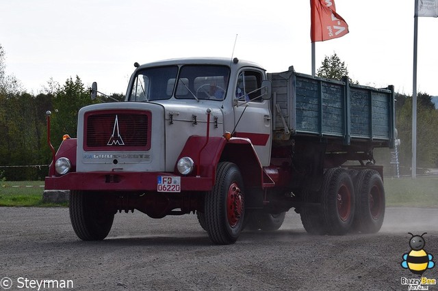
[[[274,139],[315,135],[376,141],[394,146],[394,87],[376,89],[294,72],[268,74],[272,81]]]

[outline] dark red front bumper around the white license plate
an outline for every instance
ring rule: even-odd
[[[82,191],[157,191],[159,176],[177,176],[168,172],[72,172],[46,177],[45,190]],[[181,192],[210,191],[214,178],[181,176]]]

